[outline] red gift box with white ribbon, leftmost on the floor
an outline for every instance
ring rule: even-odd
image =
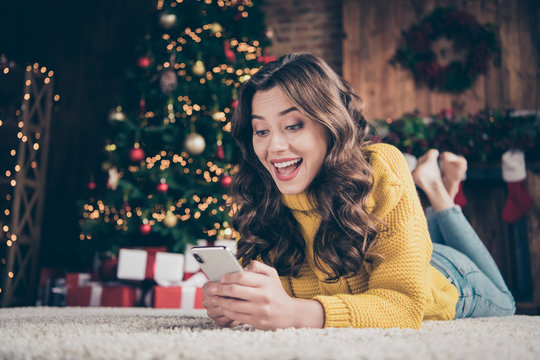
[[[67,288],[67,306],[136,306],[141,291],[133,286],[88,283],[87,286]]]

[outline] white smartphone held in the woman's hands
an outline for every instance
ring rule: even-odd
[[[232,252],[225,246],[195,246],[191,253],[210,281],[219,281],[225,274],[243,271]]]

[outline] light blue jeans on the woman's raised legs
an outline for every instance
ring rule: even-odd
[[[431,264],[460,293],[455,318],[513,315],[514,297],[461,208],[428,208],[426,218],[433,241]]]

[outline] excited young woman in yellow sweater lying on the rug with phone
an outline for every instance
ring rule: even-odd
[[[514,313],[452,202],[464,159],[443,154],[441,174],[432,150],[411,176],[396,148],[365,142],[366,132],[358,97],[316,56],[284,55],[243,86],[232,191],[246,271],[203,287],[217,324],[418,329]],[[413,177],[432,203],[427,221]]]

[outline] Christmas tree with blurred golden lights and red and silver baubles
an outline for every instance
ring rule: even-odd
[[[240,153],[230,118],[238,88],[271,59],[260,6],[157,2],[128,72],[131,92],[109,115],[102,169],[81,203],[86,250],[181,252],[198,238],[234,236],[227,187]]]

